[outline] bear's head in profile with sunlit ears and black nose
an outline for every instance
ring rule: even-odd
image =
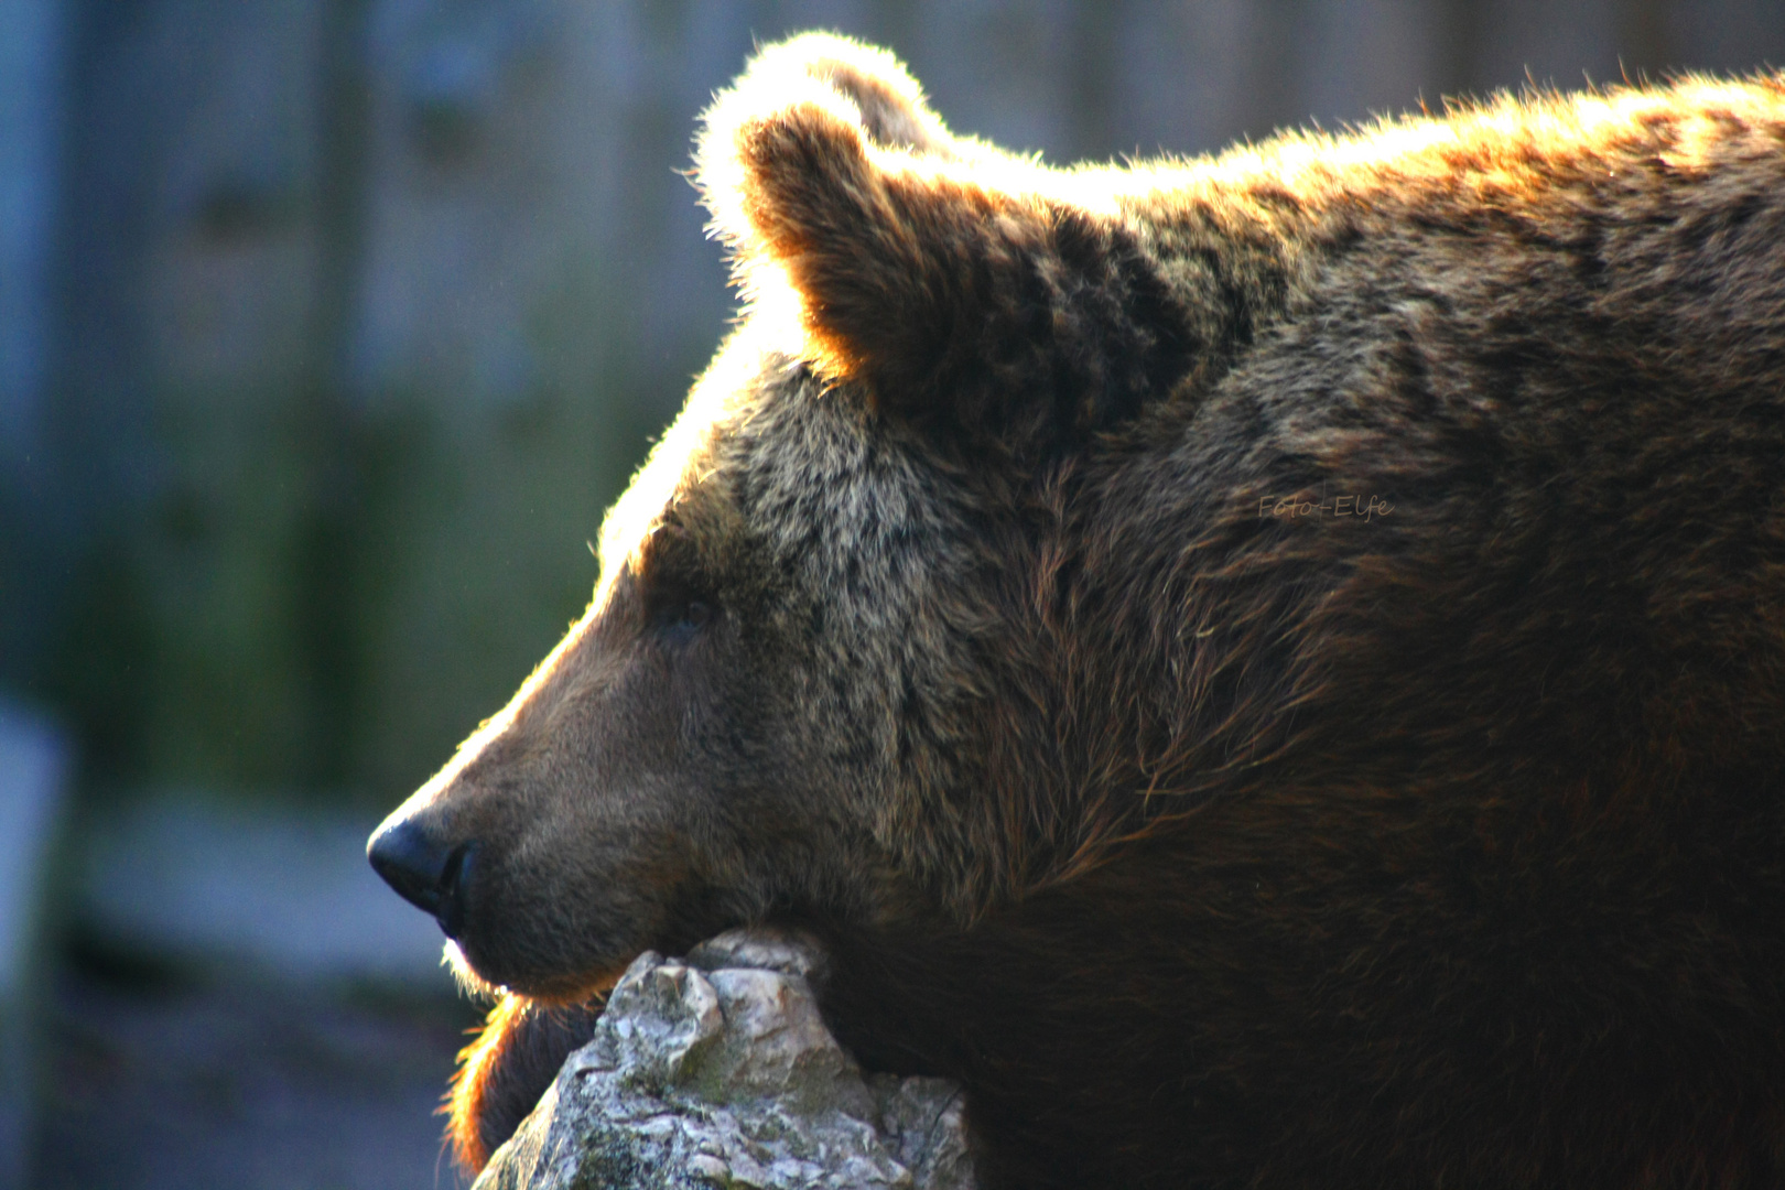
[[[696,178],[748,314],[589,610],[371,844],[468,979],[537,999],[771,913],[966,924],[1117,833],[1048,771],[1060,487],[1233,334],[1107,184],[837,37],[762,54]]]

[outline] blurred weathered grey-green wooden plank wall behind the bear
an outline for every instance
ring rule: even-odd
[[[0,680],[89,778],[393,801],[507,698],[725,330],[693,121],[805,27],[1059,162],[1785,61],[1778,0],[7,0]]]

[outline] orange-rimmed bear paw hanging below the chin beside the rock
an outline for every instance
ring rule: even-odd
[[[594,1037],[602,1001],[550,1008],[503,996],[477,1040],[459,1054],[443,1111],[459,1163],[473,1174],[502,1147],[552,1087],[571,1051]]]

